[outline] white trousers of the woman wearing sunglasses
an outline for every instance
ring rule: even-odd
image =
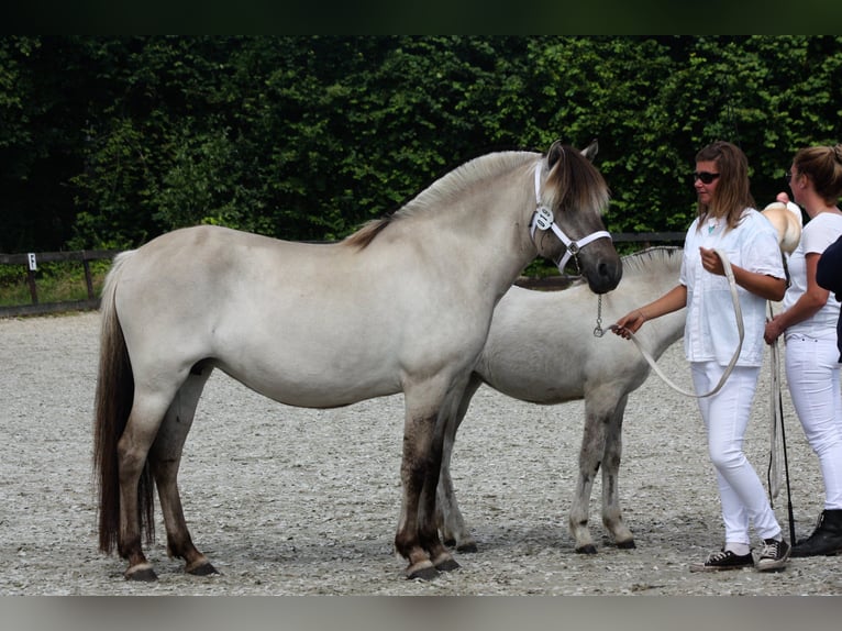
[[[724,372],[716,362],[691,362],[690,368],[697,392],[712,390]],[[708,430],[708,453],[717,469],[725,544],[751,544],[750,524],[762,539],[780,534],[766,489],[743,453],[758,375],[760,367],[734,366],[719,392],[698,399]]]

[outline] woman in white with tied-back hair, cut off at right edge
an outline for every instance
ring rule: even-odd
[[[783,311],[766,323],[769,344],[786,340],[786,377],[793,406],[819,456],[824,510],[816,530],[793,546],[793,556],[842,553],[842,395],[839,385],[839,301],[819,286],[819,258],[842,235],[842,145],[799,151],[787,173],[795,202],[810,218],[789,257],[791,284]]]

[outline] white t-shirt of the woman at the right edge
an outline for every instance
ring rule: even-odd
[[[789,309],[807,291],[807,254],[821,254],[824,248],[842,235],[842,215],[820,212],[807,222],[801,231],[801,241],[789,256],[789,288],[784,296],[783,308]],[[787,326],[786,335],[799,334],[816,340],[835,340],[839,301],[833,294],[824,306],[807,320]]]

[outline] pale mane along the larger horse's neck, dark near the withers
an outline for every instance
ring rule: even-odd
[[[487,154],[468,160],[435,180],[399,210],[381,219],[365,223],[355,233],[346,236],[343,243],[362,250],[389,224],[446,202],[472,184],[498,177],[505,171],[527,165],[536,158],[538,154],[535,153],[510,151]]]

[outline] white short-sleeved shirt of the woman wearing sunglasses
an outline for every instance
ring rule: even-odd
[[[701,266],[699,247],[722,251],[732,265],[750,272],[784,278],[784,263],[777,232],[768,220],[753,208],[743,211],[740,223],[725,231],[706,222],[701,231],[693,222],[684,242],[684,259],[679,280],[687,287],[687,320],[684,328],[684,352],[689,362],[717,362],[727,366],[740,343],[731,289],[725,276],[707,272]],[[743,346],[738,366],[763,365],[766,343],[766,299],[738,286],[743,316]]]

